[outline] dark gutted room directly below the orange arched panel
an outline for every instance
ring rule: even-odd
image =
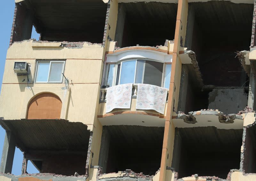
[[[81,122],[61,119],[1,120],[15,144],[40,173],[85,175],[90,131]]]

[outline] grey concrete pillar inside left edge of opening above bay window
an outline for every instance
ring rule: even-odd
[[[115,41],[117,41],[118,47],[122,47],[125,16],[126,16],[126,12],[124,11],[123,4],[118,4],[118,15],[117,15],[116,35],[115,35]]]

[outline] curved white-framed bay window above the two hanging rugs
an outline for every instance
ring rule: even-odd
[[[107,64],[105,85],[144,83],[169,89],[172,64],[131,59]]]

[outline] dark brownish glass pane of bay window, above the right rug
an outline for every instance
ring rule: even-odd
[[[161,87],[163,75],[163,63],[146,61],[143,83]]]

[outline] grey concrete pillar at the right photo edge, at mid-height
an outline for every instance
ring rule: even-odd
[[[252,108],[253,110],[256,110],[255,109],[255,99],[254,99],[254,96],[256,94],[255,92],[255,87],[256,86],[256,77],[254,76],[254,71],[252,69],[252,66],[251,66],[251,74],[250,74],[250,84],[249,84],[249,94],[248,94],[248,106],[250,108]]]

